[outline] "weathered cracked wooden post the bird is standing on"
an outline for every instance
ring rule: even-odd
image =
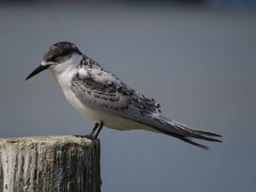
[[[0,192],[99,192],[100,173],[98,140],[0,139]]]

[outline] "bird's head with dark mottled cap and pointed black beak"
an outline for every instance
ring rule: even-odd
[[[52,68],[56,72],[61,72],[71,63],[77,64],[76,62],[78,62],[77,60],[81,55],[82,53],[75,44],[69,42],[53,44],[45,51],[41,65],[32,71],[26,77],[26,80],[31,79],[36,74],[48,68]]]

